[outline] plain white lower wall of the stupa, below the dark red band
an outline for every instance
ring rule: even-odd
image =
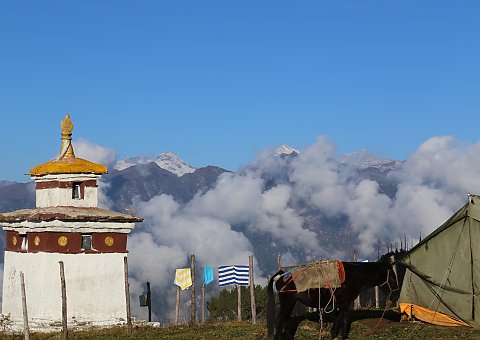
[[[123,253],[58,254],[5,252],[2,310],[12,329],[23,328],[20,272],[24,273],[29,325],[51,331],[61,326],[59,261],[63,261],[67,317],[71,325],[113,325],[126,321]]]

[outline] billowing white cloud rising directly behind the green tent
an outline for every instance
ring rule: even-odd
[[[420,233],[428,235],[466,203],[468,192],[480,193],[478,173],[480,144],[443,136],[420,145],[392,174],[399,182],[392,199],[375,183],[359,183],[349,191],[347,209],[352,227],[361,231],[361,251],[371,254],[375,239],[416,242]]]

